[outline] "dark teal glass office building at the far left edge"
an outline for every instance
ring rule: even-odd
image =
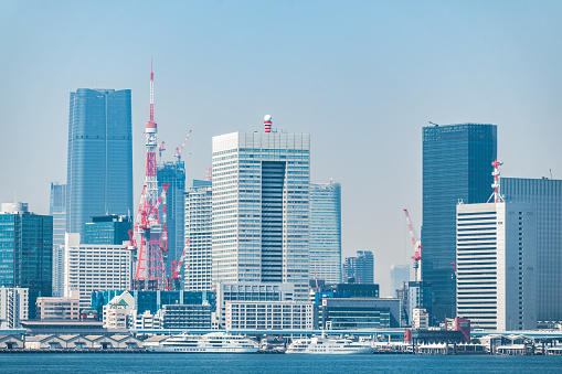
[[[4,203],[0,211],[0,286],[29,289],[29,318],[38,297],[51,296],[53,217],[33,214],[26,203]]]

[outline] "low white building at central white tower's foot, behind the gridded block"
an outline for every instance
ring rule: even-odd
[[[213,325],[225,325],[227,301],[294,301],[294,284],[218,284],[216,313]]]

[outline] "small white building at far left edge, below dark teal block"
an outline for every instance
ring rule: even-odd
[[[0,287],[0,329],[19,329],[29,318],[29,289]]]

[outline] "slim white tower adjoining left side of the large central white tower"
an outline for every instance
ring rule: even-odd
[[[194,180],[185,191],[185,242],[189,239],[184,266],[184,289],[211,290],[213,258],[211,255],[212,184]]]

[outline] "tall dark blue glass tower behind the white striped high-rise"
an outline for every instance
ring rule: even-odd
[[[494,182],[496,125],[423,128],[422,278],[433,287],[433,323],[455,317],[456,205],[485,203]]]

